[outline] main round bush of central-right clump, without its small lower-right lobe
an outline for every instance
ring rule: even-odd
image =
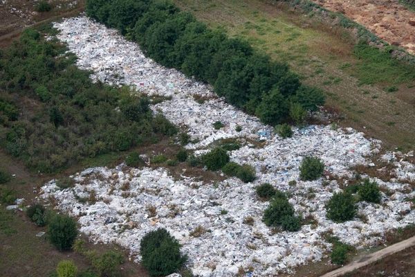
[[[275,198],[264,211],[262,220],[266,226],[281,226],[284,217],[293,215],[293,205],[291,205],[287,199]]]

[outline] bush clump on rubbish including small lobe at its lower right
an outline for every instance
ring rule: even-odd
[[[281,227],[284,231],[298,231],[301,229],[302,219],[294,215],[293,205],[285,195],[278,195],[270,201],[264,211],[262,221],[266,226]]]

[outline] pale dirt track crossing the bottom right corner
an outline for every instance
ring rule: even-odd
[[[413,246],[415,246],[415,237],[409,238],[407,240],[403,240],[402,242],[398,242],[396,244],[392,244],[390,247],[386,247],[385,249],[371,253],[363,258],[360,258],[360,260],[356,260],[349,265],[341,267],[340,269],[333,270],[327,274],[324,274],[321,277],[343,276],[344,274],[347,274],[349,272],[355,271],[356,269],[360,269],[362,267],[370,265],[378,260],[381,260],[382,258],[386,258],[387,256],[390,256],[394,253],[398,253],[400,251],[403,251],[404,249],[407,249]]]

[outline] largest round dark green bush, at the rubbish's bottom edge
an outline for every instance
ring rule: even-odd
[[[151,231],[140,242],[141,264],[150,276],[172,274],[187,261],[180,249],[181,245],[165,229]]]

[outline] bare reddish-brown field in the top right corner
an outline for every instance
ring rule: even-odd
[[[381,39],[415,54],[415,12],[398,0],[312,0],[329,10],[341,12],[362,24]]]

